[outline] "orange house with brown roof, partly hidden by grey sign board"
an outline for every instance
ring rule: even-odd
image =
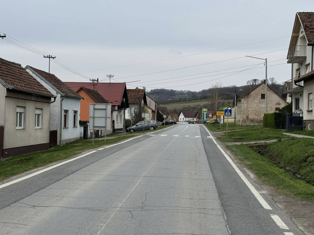
[[[89,121],[89,104],[104,104],[109,103],[106,101],[104,97],[102,97],[97,91],[90,90],[88,88],[81,87],[77,93],[84,97],[84,99],[81,99],[80,103],[80,118],[81,121]],[[114,107],[111,106],[111,130],[107,130],[107,134],[110,134],[112,132],[112,120],[113,120],[113,112],[116,111]],[[102,133],[105,133],[105,131],[102,131]]]

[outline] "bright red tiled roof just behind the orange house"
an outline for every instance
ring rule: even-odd
[[[78,91],[81,86],[84,88],[88,88],[94,90],[91,82],[65,82],[69,87],[71,87],[74,91]],[[126,85],[124,82],[111,82],[111,83],[104,83],[99,82],[97,86],[95,86],[95,91],[104,97],[109,103],[114,106],[121,105],[122,96],[124,90],[126,89]]]

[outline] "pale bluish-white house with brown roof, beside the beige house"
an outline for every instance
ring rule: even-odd
[[[57,96],[56,102],[50,107],[50,131],[51,135],[55,135],[55,141],[51,145],[65,144],[79,139],[80,101],[83,97],[51,73],[29,65],[25,69]]]

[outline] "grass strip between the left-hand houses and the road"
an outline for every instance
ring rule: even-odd
[[[5,159],[0,162],[0,181],[7,177],[32,170],[36,167],[72,157],[88,149],[114,144],[132,137],[134,137],[134,135],[120,136],[119,138],[109,139],[106,141],[98,140],[95,141],[94,144],[92,144],[92,141],[86,139],[77,140],[72,143],[64,144],[63,146],[57,145],[53,149]]]

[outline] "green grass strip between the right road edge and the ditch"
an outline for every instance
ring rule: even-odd
[[[285,140],[286,141],[286,140]],[[281,143],[283,143],[282,141]],[[274,187],[278,193],[314,200],[314,186],[303,180],[297,180],[284,169],[280,169],[266,156],[260,155],[244,144],[226,146],[237,158],[252,170],[267,185]]]

